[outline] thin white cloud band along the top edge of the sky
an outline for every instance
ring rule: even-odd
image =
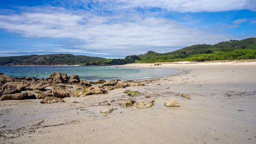
[[[58,4],[72,8],[84,7],[92,11],[157,7],[175,12],[219,12],[256,8],[255,0],[73,0],[61,1]]]

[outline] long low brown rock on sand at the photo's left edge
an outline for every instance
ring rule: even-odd
[[[24,99],[36,99],[36,96],[31,93],[16,93],[16,94],[6,94],[0,97],[0,100],[24,100]]]

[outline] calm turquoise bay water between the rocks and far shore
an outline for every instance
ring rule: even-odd
[[[96,81],[98,79],[146,79],[183,74],[181,70],[124,68],[113,66],[1,66],[0,73],[13,77],[47,78],[53,72],[79,75],[82,80]]]

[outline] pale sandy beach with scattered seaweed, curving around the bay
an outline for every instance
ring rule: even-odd
[[[41,104],[40,99],[0,101],[0,143],[256,143],[256,62],[151,65],[122,66],[179,69],[186,74],[140,80],[148,86],[66,97],[64,103]],[[130,97],[123,93],[125,90],[141,94]],[[191,99],[185,99],[182,93]],[[154,106],[120,107],[119,103],[129,99],[154,101]],[[164,106],[173,99],[180,107]],[[114,111],[100,113],[108,108]],[[20,130],[33,135],[22,137]],[[18,136],[9,135],[16,132]]]

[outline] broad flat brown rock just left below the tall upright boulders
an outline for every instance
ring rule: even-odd
[[[45,87],[48,87],[51,85],[50,82],[45,81],[45,80],[31,80],[27,81],[26,84],[28,85],[27,89],[28,90],[33,90],[33,89],[44,89]]]

